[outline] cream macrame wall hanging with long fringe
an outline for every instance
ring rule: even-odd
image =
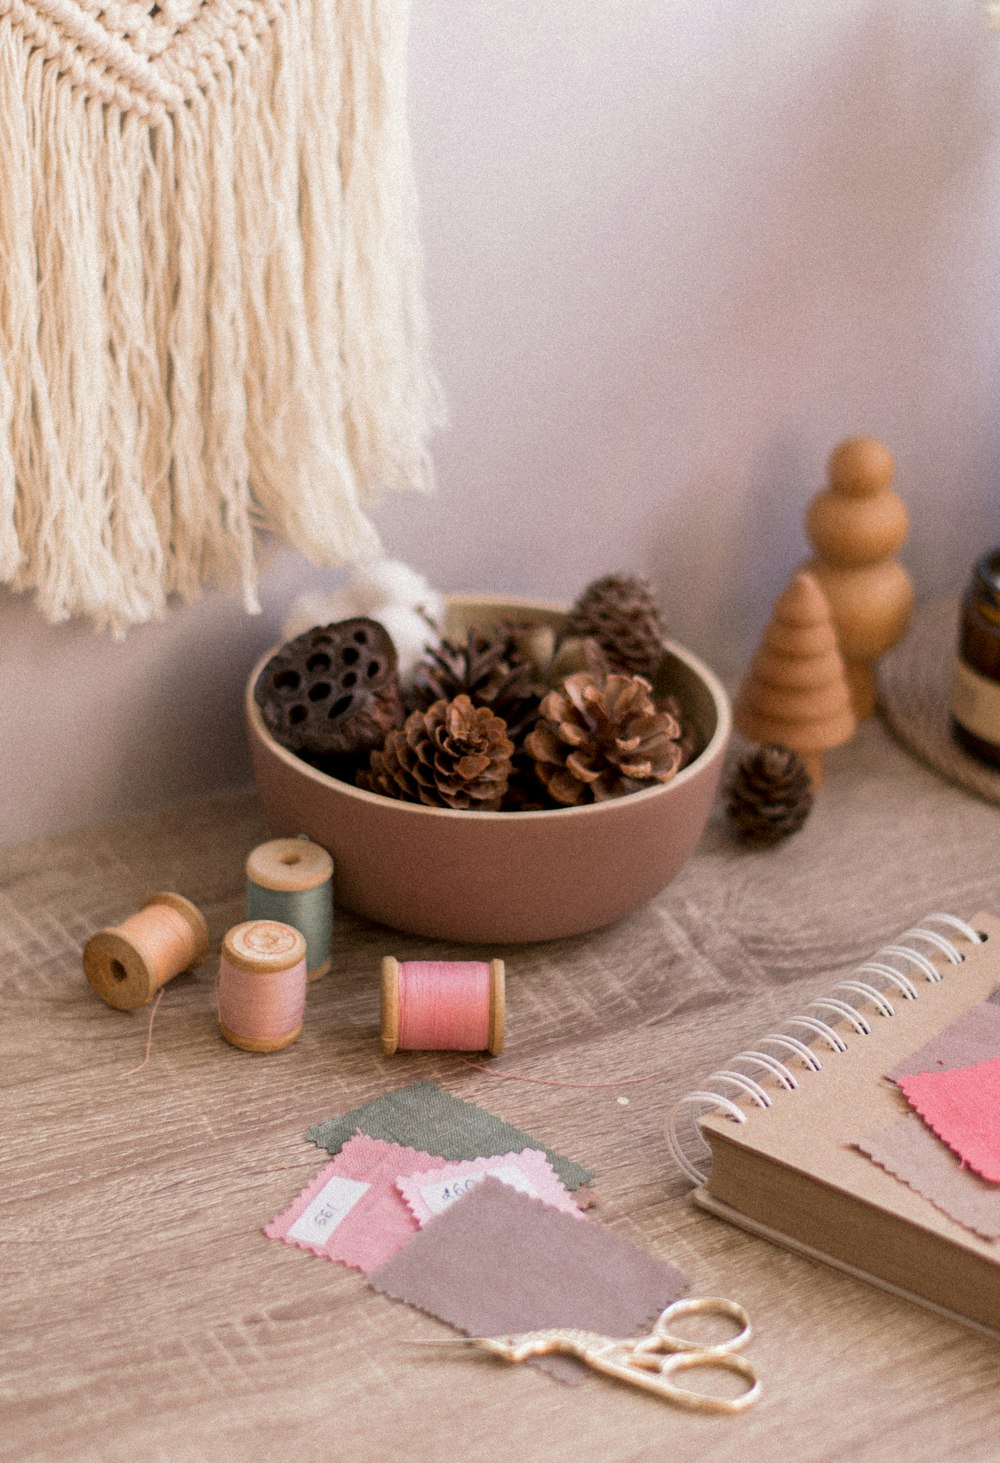
[[[0,0],[0,582],[123,629],[427,487],[406,0]]]

